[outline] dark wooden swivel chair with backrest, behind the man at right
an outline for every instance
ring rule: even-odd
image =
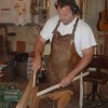
[[[84,102],[90,99],[92,106],[96,107],[97,105],[103,105],[106,102],[104,96],[98,93],[98,85],[107,84],[108,75],[102,72],[102,69],[108,69],[108,56],[95,55],[89,67],[95,68],[96,71],[90,71],[90,75],[83,79],[85,82],[92,83],[92,92],[85,95]],[[96,103],[97,100],[98,103]]]

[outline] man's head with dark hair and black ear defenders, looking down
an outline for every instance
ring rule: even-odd
[[[59,19],[65,25],[71,23],[76,14],[79,12],[79,6],[76,4],[75,0],[57,0],[55,2],[55,8]]]

